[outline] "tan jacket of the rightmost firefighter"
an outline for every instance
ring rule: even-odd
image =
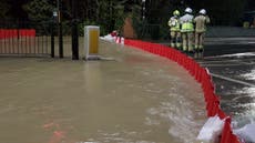
[[[210,23],[210,18],[201,14],[195,17],[194,22],[195,22],[195,32],[205,32],[206,23]]]

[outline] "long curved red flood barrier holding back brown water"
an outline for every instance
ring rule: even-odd
[[[221,136],[221,143],[239,143],[237,136],[233,134],[231,127],[231,116],[226,115],[220,106],[220,98],[215,94],[215,86],[212,81],[212,75],[207,69],[202,68],[197,62],[186,54],[183,54],[182,52],[166,45],[128,39],[125,39],[124,43],[125,45],[131,45],[167,58],[186,69],[203,88],[207,116],[210,118],[217,114],[221,119],[226,119]]]

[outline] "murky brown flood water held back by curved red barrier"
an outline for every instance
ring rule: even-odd
[[[1,143],[192,143],[202,89],[166,59],[101,42],[110,60],[0,58]]]

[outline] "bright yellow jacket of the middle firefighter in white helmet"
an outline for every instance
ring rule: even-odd
[[[193,32],[194,31],[193,19],[194,17],[188,13],[180,18],[180,21],[182,24],[181,32]]]

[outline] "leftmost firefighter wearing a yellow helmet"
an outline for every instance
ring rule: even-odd
[[[173,17],[169,20],[171,47],[181,50],[181,32],[180,32],[180,11],[174,10]]]

